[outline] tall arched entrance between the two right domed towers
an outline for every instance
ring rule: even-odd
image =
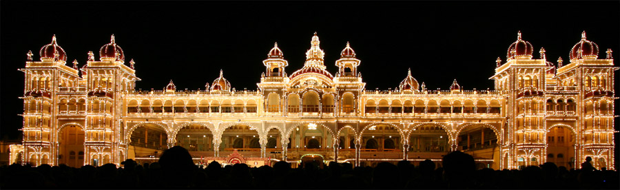
[[[547,132],[547,162],[558,167],[575,168],[575,133],[562,125],[555,125]]]

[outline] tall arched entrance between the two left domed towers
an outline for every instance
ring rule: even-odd
[[[59,165],[84,165],[84,130],[78,125],[67,125],[59,134]]]

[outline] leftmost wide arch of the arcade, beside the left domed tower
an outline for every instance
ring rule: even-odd
[[[159,125],[146,123],[132,131],[127,158],[159,156],[167,149],[168,135]]]

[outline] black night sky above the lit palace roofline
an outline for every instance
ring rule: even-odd
[[[19,138],[22,127],[26,52],[56,34],[68,65],[116,36],[127,65],[136,61],[137,88],[204,89],[219,70],[232,87],[256,90],[262,60],[274,42],[284,53],[288,74],[300,69],[318,32],[327,70],[347,41],[362,61],[366,89],[394,89],[411,67],[428,89],[448,89],[456,78],[465,89],[493,89],[495,59],[517,39],[545,47],[549,61],[568,63],[570,48],[586,30],[620,58],[619,1],[1,1],[0,69],[3,138]],[[99,54],[96,59],[99,59]],[[618,74],[618,73],[616,73]],[[616,83],[617,85],[618,83]],[[616,89],[620,89],[616,86]],[[617,108],[618,106],[616,106]],[[616,113],[619,113],[618,110]],[[618,123],[618,121],[616,121]],[[618,128],[618,127],[616,127]],[[617,129],[618,130],[618,129]],[[618,139],[618,138],[616,138]]]

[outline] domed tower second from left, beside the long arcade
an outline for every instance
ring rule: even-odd
[[[125,123],[121,113],[127,113],[121,95],[133,91],[140,80],[135,70],[125,65],[123,49],[116,44],[114,34],[99,50],[99,61],[87,61],[82,69],[87,83],[87,116],[85,162],[89,165],[119,164],[127,156]]]

